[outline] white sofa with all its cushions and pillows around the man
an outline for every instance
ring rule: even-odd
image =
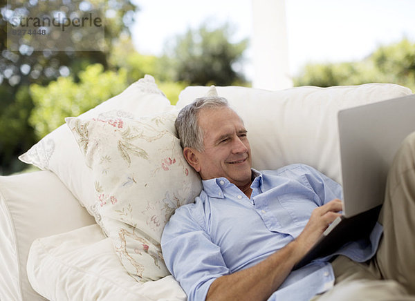
[[[120,126],[119,123],[124,127],[128,124],[136,130],[134,133],[160,133],[167,128],[172,133],[169,137],[173,137],[172,116],[207,90],[208,87],[187,87],[178,104],[171,106],[154,79],[146,76],[79,119],[68,119],[67,124],[20,157],[44,171],[0,177],[0,300],[186,300],[172,275],[163,270],[163,258],[157,253],[158,235],[169,215],[163,211],[161,218],[155,211],[165,208],[158,206],[160,193],[166,195],[163,201],[169,195],[186,195],[183,200],[172,197],[180,199],[174,206],[192,202],[193,195],[200,191],[200,179],[187,170],[178,155],[180,149],[173,146],[173,155],[165,155],[156,147],[158,140],[139,144],[147,150],[145,159],[149,164],[151,160],[161,160],[156,162],[160,164],[157,174],[154,170],[150,173],[151,166],[136,161],[140,157],[137,148],[136,153],[129,148],[127,159],[122,157],[122,162],[128,163],[125,168],[113,159],[112,165],[102,169],[102,160],[94,156],[98,152],[102,158],[108,158],[108,153],[111,155],[116,149],[122,153],[113,145],[114,134],[105,132],[111,126]],[[338,110],[412,94],[408,88],[394,84],[281,91],[232,86],[217,90],[246,124],[254,168],[304,163],[340,183]],[[168,116],[168,120],[160,116]],[[151,124],[154,120],[160,128]],[[95,127],[91,128],[86,121]],[[100,131],[93,132],[98,127]],[[82,144],[80,135],[84,132],[80,128],[89,130],[88,145]],[[103,133],[108,133],[108,137]],[[176,137],[172,137],[167,144],[176,145]],[[104,142],[107,144],[100,148]],[[113,189],[114,177],[124,171],[129,172],[128,181],[117,178],[122,185],[112,191],[113,195],[118,193],[118,199],[107,198],[106,202],[102,195],[105,196],[106,189]],[[147,182],[137,190],[134,187],[140,181]],[[175,190],[181,186],[177,184],[180,181],[187,181],[183,186],[190,188],[185,192]],[[154,183],[156,186],[151,186]],[[146,191],[147,187],[151,189]],[[122,199],[125,195],[133,198],[129,207]],[[144,206],[140,202],[149,197],[153,199],[146,207],[140,207]],[[160,204],[174,210],[166,202]],[[131,213],[131,220],[120,213],[127,208],[120,207],[122,204],[135,212],[136,215]],[[118,215],[113,215],[114,211]],[[131,231],[133,235],[122,236],[125,240],[120,242],[118,235],[122,231]]]

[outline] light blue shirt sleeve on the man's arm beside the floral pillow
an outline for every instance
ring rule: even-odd
[[[187,300],[197,301],[205,300],[216,278],[230,273],[221,249],[212,243],[203,215],[198,211],[203,212],[200,199],[196,199],[196,204],[176,209],[161,239],[167,269],[181,284]]]

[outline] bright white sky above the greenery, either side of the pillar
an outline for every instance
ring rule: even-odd
[[[251,1],[134,0],[140,7],[132,29],[136,49],[160,55],[165,41],[203,21],[235,27],[234,39],[252,35]],[[308,62],[356,61],[378,46],[407,37],[415,41],[414,0],[286,0],[291,75]],[[252,51],[245,73],[252,79]]]

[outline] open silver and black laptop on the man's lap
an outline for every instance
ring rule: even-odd
[[[415,131],[415,95],[338,112],[343,210],[294,269],[367,237],[385,196],[386,179],[403,139]]]

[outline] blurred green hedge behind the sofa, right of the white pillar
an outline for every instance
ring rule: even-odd
[[[344,86],[367,83],[399,84],[415,90],[415,43],[403,39],[382,46],[367,59],[338,64],[309,64],[295,86]]]

